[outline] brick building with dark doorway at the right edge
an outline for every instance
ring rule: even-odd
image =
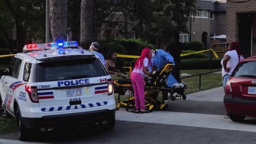
[[[226,36],[240,41],[245,57],[256,55],[256,0],[227,0]]]

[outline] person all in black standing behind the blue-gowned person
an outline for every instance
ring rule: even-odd
[[[183,44],[179,42],[179,34],[174,34],[174,41],[166,46],[166,51],[170,52],[170,54],[174,58],[175,66],[172,69],[171,73],[174,78],[181,83],[180,70],[181,70],[181,52],[183,49]]]

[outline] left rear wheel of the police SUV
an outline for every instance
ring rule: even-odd
[[[21,121],[21,114],[20,114],[20,108],[18,107],[15,113],[16,117],[16,123],[18,127],[18,138],[21,141],[26,141],[28,140],[28,129],[23,125]]]

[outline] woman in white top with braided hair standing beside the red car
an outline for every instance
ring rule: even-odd
[[[221,61],[224,92],[225,92],[226,82],[228,82],[228,79],[232,74],[233,70],[235,69],[236,65],[242,59],[243,59],[243,55],[240,52],[239,41],[231,42],[229,45],[228,52],[225,53]]]

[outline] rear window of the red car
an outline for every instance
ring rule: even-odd
[[[232,76],[234,77],[256,77],[256,61],[241,62],[237,65]]]

